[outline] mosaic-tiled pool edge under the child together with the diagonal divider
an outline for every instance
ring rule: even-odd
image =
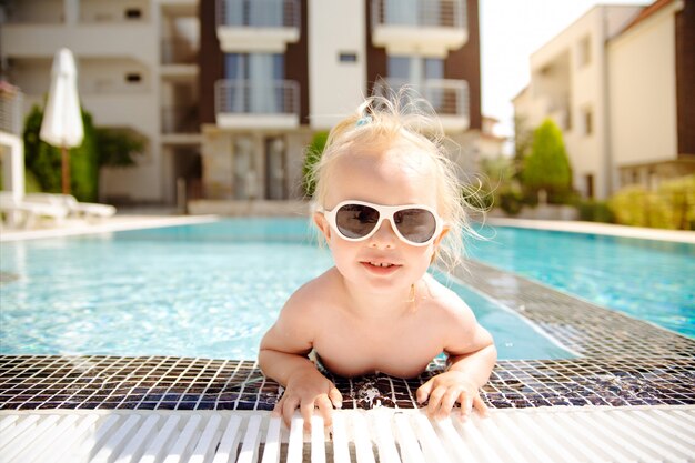
[[[456,278],[536,323],[581,356],[500,361],[492,407],[695,404],[695,340],[487,265]],[[417,379],[334,378],[344,407],[416,407]],[[280,394],[255,362],[185,358],[0,356],[0,409],[270,410]]]

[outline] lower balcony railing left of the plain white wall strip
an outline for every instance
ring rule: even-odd
[[[293,80],[256,82],[219,80],[215,82],[215,112],[233,114],[300,113],[300,88]]]

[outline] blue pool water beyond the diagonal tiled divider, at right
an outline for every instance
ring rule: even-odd
[[[469,254],[598,305],[695,336],[695,244],[517,228]]]

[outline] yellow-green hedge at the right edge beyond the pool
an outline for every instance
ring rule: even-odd
[[[656,191],[625,187],[608,203],[623,225],[695,230],[695,175],[664,181]]]

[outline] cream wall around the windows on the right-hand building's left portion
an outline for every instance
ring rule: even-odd
[[[622,30],[641,10],[642,7],[598,6],[578,18],[532,54],[531,101],[522,99],[516,102],[520,113],[528,117],[530,128],[533,129],[546,117],[562,119],[563,112],[557,111],[562,101],[557,100],[566,89],[571,128],[563,130],[563,137],[574,187],[586,194],[585,179],[592,175],[594,195],[600,199],[607,197],[613,188],[610,134],[606,132],[608,89],[605,40]],[[581,57],[586,40],[590,59],[583,62]],[[554,72],[544,74],[542,71],[548,66]],[[586,133],[586,112],[592,114],[591,133]],[[561,120],[556,122],[563,127]]]

